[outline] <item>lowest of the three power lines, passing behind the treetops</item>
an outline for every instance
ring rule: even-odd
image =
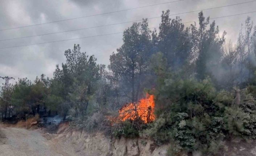
[[[246,13],[239,13],[239,14],[233,14],[233,15],[228,15],[228,16],[214,17],[214,18],[210,18],[210,20],[217,19],[217,18],[238,16],[238,15],[248,14],[248,13],[255,13],[255,12],[256,12],[256,11],[253,11],[253,12],[246,12]],[[183,23],[191,23],[191,22],[198,22],[198,20],[197,20],[197,21],[190,21],[190,22],[183,22]],[[149,29],[154,29],[154,28],[158,28],[158,26],[157,26],[157,27],[152,27],[152,28],[149,28]],[[29,44],[29,45],[20,45],[20,46],[11,46],[11,47],[1,47],[0,49],[8,49],[8,48],[24,47],[24,46],[32,46],[32,45],[41,45],[41,44],[46,44],[46,43],[63,42],[63,41],[70,41],[70,40],[84,39],[84,38],[92,38],[92,37],[99,37],[99,36],[106,36],[106,35],[113,35],[113,34],[121,34],[121,33],[123,33],[123,32],[110,33],[110,34],[102,34],[102,35],[93,35],[93,36],[79,37],[79,38],[71,38],[71,39],[63,39],[63,40],[58,40],[58,41],[41,42],[41,43],[35,43],[35,44]]]

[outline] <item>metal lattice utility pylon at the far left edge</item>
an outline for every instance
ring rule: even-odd
[[[6,104],[6,106],[5,106],[5,112],[2,111],[2,118],[3,118],[3,113],[5,113],[4,118],[6,119],[6,117],[7,117],[7,109],[8,109],[8,102],[9,102],[9,101],[8,101],[9,98],[8,98],[7,96],[8,96],[9,86],[11,85],[11,84],[9,84],[9,80],[14,79],[14,78],[13,78],[13,77],[8,77],[8,76],[5,76],[5,77],[1,77],[1,76],[0,76],[0,78],[2,78],[2,79],[5,80],[5,84],[3,84],[3,85],[4,85],[3,102]],[[14,80],[15,80],[15,79],[14,79]],[[2,109],[3,109],[3,108],[2,108]],[[11,107],[10,107],[9,109],[10,109],[10,110],[9,110],[9,117],[10,117]]]

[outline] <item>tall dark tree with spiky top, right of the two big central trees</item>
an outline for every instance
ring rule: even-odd
[[[205,19],[203,12],[199,13],[199,28],[191,25],[194,47],[193,50],[198,56],[196,60],[197,78],[202,80],[208,75],[215,75],[214,69],[218,68],[220,60],[223,56],[223,43],[225,42],[226,32],[222,37],[218,37],[219,27],[215,28],[215,21],[209,24],[209,19]]]

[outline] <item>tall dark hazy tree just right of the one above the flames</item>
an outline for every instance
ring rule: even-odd
[[[179,17],[171,19],[169,15],[170,10],[162,12],[158,50],[167,58],[169,67],[178,69],[189,62],[191,52],[190,29],[185,28]]]

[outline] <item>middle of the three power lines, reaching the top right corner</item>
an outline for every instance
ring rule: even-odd
[[[248,1],[248,2],[243,2],[243,3],[237,3],[237,4],[224,5],[224,6],[220,6],[220,7],[214,7],[214,8],[201,9],[201,10],[210,10],[210,9],[224,8],[224,7],[234,6],[234,5],[240,5],[240,4],[245,4],[245,3],[251,3],[251,2],[255,2],[255,1],[256,1],[256,0]],[[199,12],[199,11],[201,11],[201,10],[194,10],[194,11],[190,11],[190,12],[183,12],[183,13],[170,14],[170,16],[178,15],[178,14],[185,14],[185,13],[192,13],[192,12]],[[161,17],[161,16],[157,16],[157,17],[151,17],[151,18],[148,18],[148,19],[154,19],[154,18],[160,18],[160,17]],[[21,38],[37,37],[37,36],[50,35],[50,34],[66,33],[66,32],[70,32],[70,31],[78,31],[78,30],[85,30],[85,29],[92,29],[92,28],[100,28],[100,27],[104,27],[104,26],[119,25],[119,24],[125,24],[125,23],[137,22],[137,21],[142,21],[142,20],[133,20],[133,21],[127,21],[127,22],[121,22],[121,23],[115,23],[115,24],[107,24],[107,25],[100,25],[100,26],[92,26],[92,27],[81,28],[81,29],[73,29],[73,30],[66,30],[66,31],[58,31],[58,32],[46,33],[46,34],[39,34],[39,35],[30,35],[30,36],[25,36],[25,37],[1,39],[0,42],[1,42],[1,41],[9,41],[9,40],[13,40],[13,39],[21,39]]]

